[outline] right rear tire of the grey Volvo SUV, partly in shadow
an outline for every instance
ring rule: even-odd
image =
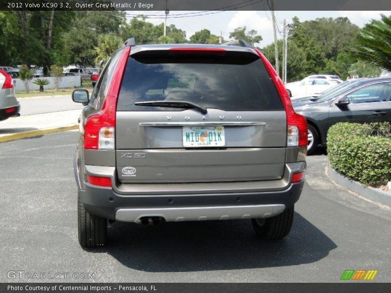
[[[281,214],[266,219],[251,219],[253,228],[262,239],[282,239],[288,235],[293,223],[294,206]]]

